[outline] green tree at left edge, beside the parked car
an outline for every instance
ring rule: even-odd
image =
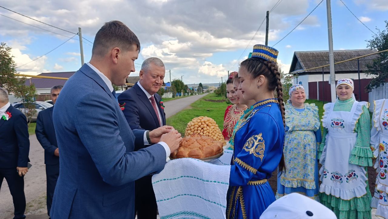
[[[37,95],[36,89],[34,85],[25,85],[26,78],[18,78],[15,75],[16,63],[10,54],[11,49],[6,43],[0,43],[0,86],[22,100],[23,112],[27,120],[31,122],[31,117],[36,113],[35,104],[33,104]]]

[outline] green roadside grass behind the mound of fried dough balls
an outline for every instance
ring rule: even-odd
[[[213,100],[213,101],[222,101],[222,102],[211,102],[206,101],[207,100]],[[175,127],[180,134],[185,133],[186,125],[188,122],[190,122],[193,118],[198,116],[208,116],[212,119],[214,119],[222,131],[223,129],[223,115],[225,114],[225,109],[229,104],[226,103],[226,99],[223,97],[218,97],[214,93],[210,93],[201,99],[195,101],[190,106],[190,109],[184,109],[180,111],[179,113],[171,116],[167,119],[167,125],[172,125]]]

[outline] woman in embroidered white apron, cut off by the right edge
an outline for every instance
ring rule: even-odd
[[[374,101],[372,116],[371,149],[376,159],[376,187],[371,207],[376,216],[388,219],[388,99]]]

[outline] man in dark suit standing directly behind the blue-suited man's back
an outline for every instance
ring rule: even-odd
[[[55,104],[57,97],[62,90],[62,85],[51,88],[50,98]],[[54,106],[42,110],[36,119],[35,134],[39,143],[45,149],[46,181],[47,181],[47,214],[50,216],[52,197],[54,196],[55,185],[59,176],[59,149],[55,137],[54,123],[52,122],[52,111]]]

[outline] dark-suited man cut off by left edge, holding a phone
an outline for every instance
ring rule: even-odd
[[[0,87],[0,188],[5,178],[14,201],[14,219],[26,217],[24,175],[28,172],[28,136],[26,116],[11,106],[7,90]]]

